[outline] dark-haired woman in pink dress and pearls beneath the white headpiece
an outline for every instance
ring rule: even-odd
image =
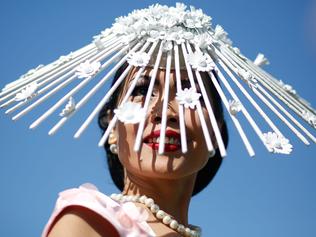
[[[127,64],[117,71],[113,84],[126,67]],[[124,83],[101,111],[99,124],[103,131],[113,117],[111,111],[122,101],[138,70],[135,67],[130,71]],[[152,72],[152,67],[145,68],[129,98],[130,102],[144,104]],[[115,199],[112,201],[91,185],[66,190],[61,193],[43,236],[198,236],[198,228],[188,225],[190,199],[208,185],[222,160],[219,152],[214,157],[209,157],[198,114],[190,108],[186,108],[184,114],[188,151],[186,154],[181,152],[174,70],[170,73],[165,153],[158,154],[157,137],[162,119],[165,74],[166,70],[158,70],[140,151],[133,150],[137,124],[118,122],[108,143],[104,145],[114,183],[123,195],[133,197],[124,202],[120,195],[112,195]],[[202,79],[227,145],[228,135],[219,95],[207,74],[202,73]],[[181,70],[181,84],[182,88],[190,87],[185,70]],[[207,117],[204,102],[202,99],[200,101]],[[215,141],[208,120],[207,125],[212,140]],[[143,195],[146,197],[139,198]],[[135,209],[134,205],[139,209]]]

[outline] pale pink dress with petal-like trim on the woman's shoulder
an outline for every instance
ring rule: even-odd
[[[55,209],[48,220],[42,237],[47,237],[51,225],[58,215],[69,206],[82,206],[99,214],[111,223],[122,237],[155,236],[146,220],[148,213],[132,202],[120,204],[98,191],[93,184],[83,184],[79,188],[67,189],[59,193]]]

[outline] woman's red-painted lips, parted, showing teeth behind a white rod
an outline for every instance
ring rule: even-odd
[[[156,130],[144,138],[144,143],[150,146],[153,150],[158,150],[159,137],[160,130]],[[177,151],[180,148],[180,134],[172,130],[166,130],[165,152]]]

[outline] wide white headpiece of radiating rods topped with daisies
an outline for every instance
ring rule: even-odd
[[[75,138],[82,135],[128,73],[137,67],[136,76],[121,104],[113,111],[115,116],[99,141],[99,146],[103,146],[119,120],[139,125],[134,150],[140,149],[150,97],[157,71],[161,68],[166,70],[167,86],[164,88],[159,154],[164,153],[171,70],[176,73],[176,99],[183,153],[187,152],[184,110],[192,109],[197,110],[209,152],[214,152],[214,144],[206,125],[208,119],[211,121],[219,152],[222,157],[226,156],[220,129],[202,81],[202,72],[209,75],[250,156],[254,156],[255,151],[244,130],[245,126],[249,125],[269,152],[290,154],[292,151],[289,139],[284,137],[267,115],[268,110],[304,144],[316,142],[312,134],[316,128],[316,110],[302,99],[292,86],[262,69],[263,65],[269,63],[263,54],[258,54],[254,61],[248,59],[233,46],[221,26],[212,26],[211,20],[201,9],[187,9],[187,6],[181,3],[177,3],[175,7],[156,4],[135,10],[127,16],[117,18],[111,28],[94,36],[90,44],[61,56],[52,63],[39,65],[18,80],[7,84],[0,93],[0,107],[6,108],[6,114],[14,114],[13,120],[18,120],[46,100],[53,99],[53,96],[66,86],[73,85],[70,91],[57,98],[57,102],[30,125],[31,129],[36,128],[57,111],[59,120],[49,131],[49,134],[53,135],[127,63],[122,75],[76,131]],[[153,72],[142,107],[128,102],[128,98],[148,66],[153,68]],[[190,88],[182,89],[181,70],[186,70]],[[200,93],[196,90],[196,82],[201,89]],[[90,84],[93,84],[92,89],[79,98],[78,92],[87,85],[91,87]],[[243,103],[241,97],[244,97],[247,103]],[[201,98],[208,112],[207,117],[202,112]],[[258,101],[264,106],[259,105]],[[251,104],[262,119],[255,121],[245,104]],[[245,124],[240,122],[241,118]],[[259,126],[263,123],[266,123],[270,130],[263,131]],[[307,127],[311,127],[310,131]]]

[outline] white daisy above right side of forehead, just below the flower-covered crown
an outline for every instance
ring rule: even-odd
[[[196,69],[198,71],[206,72],[215,69],[215,64],[211,57],[200,51],[190,53],[188,57],[188,62],[193,69]]]

